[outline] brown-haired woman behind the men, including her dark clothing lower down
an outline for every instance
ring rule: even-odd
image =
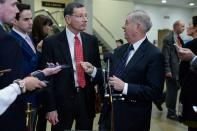
[[[52,20],[45,15],[37,15],[33,20],[33,26],[32,26],[32,38],[33,42],[35,43],[37,47],[38,52],[42,52],[42,44],[43,40],[50,34],[52,34]],[[41,63],[41,62],[39,62]],[[38,94],[38,112],[37,112],[37,124],[36,124],[36,131],[46,131],[46,107],[44,102],[47,100],[46,98],[43,99],[42,95],[44,95],[45,92],[40,92]]]

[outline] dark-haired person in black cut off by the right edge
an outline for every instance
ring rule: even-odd
[[[193,26],[190,25],[188,28],[188,35],[192,36],[193,40],[189,41],[185,44],[184,48],[190,49],[195,55],[197,55],[197,16],[192,17]],[[181,50],[183,49],[179,49]],[[182,54],[181,58],[182,58]],[[180,93],[180,103],[182,105],[182,112],[180,116],[181,122],[188,126],[188,131],[196,131],[197,130],[197,113],[193,109],[194,106],[197,106],[197,73],[195,72],[195,68],[193,68],[193,64],[195,63],[195,57],[193,61],[181,61],[180,63],[180,85],[181,85],[181,93]],[[191,68],[192,67],[192,68]]]

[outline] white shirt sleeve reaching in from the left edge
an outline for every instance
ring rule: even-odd
[[[0,90],[0,115],[7,110],[19,94],[21,94],[21,90],[16,83]]]

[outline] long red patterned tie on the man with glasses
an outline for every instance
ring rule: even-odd
[[[75,62],[77,69],[77,82],[79,84],[79,87],[84,88],[86,84],[85,75],[84,75],[84,70],[80,65],[80,62],[83,61],[83,49],[77,35],[75,35],[74,39],[75,39]]]

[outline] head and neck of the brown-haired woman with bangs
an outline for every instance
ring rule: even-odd
[[[52,34],[53,21],[45,15],[37,15],[33,20],[32,38],[37,47],[37,51],[42,51],[44,38]]]

